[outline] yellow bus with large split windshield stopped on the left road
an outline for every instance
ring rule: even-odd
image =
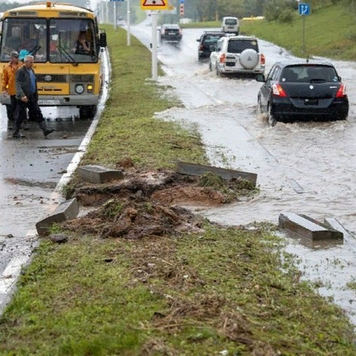
[[[106,33],[99,30],[93,11],[47,1],[4,12],[0,26],[0,80],[12,51],[20,59],[31,54],[39,105],[77,106],[80,119],[94,117]],[[0,96],[1,104],[9,102],[8,97]]]

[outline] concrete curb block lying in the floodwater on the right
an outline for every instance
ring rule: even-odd
[[[280,229],[291,231],[313,241],[342,239],[342,232],[334,230],[307,215],[282,213],[279,214],[278,221]]]

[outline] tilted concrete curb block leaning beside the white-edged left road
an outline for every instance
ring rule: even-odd
[[[37,221],[36,229],[38,235],[45,234],[54,223],[61,223],[62,221],[74,219],[79,213],[79,205],[77,199],[69,199],[63,201],[52,214],[46,218]]]

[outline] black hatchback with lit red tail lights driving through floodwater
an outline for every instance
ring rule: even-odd
[[[345,84],[333,64],[328,62],[276,62],[257,95],[258,112],[268,114],[270,125],[276,121],[345,120],[349,99]]]

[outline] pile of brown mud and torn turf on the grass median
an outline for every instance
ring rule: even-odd
[[[203,219],[187,206],[220,206],[248,195],[253,189],[242,179],[223,182],[209,174],[192,177],[128,168],[122,180],[78,185],[72,197],[83,207],[93,209],[63,225],[68,230],[100,238],[139,239],[199,231]]]

